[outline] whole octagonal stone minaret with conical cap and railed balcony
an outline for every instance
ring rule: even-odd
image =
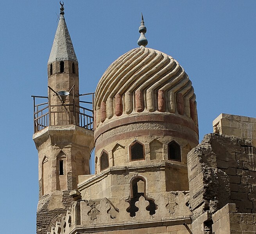
[[[93,131],[79,107],[78,61],[64,19],[60,19],[48,60],[48,126],[35,129],[38,149],[39,202],[37,234],[46,234],[51,222],[61,221],[70,208],[69,192],[77,188],[78,175],[90,174]]]

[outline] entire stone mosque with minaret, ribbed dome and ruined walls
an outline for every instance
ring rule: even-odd
[[[61,4],[48,96],[33,96],[37,234],[255,234],[256,119],[222,113],[199,144],[192,82],[141,18],[139,47],[80,94]]]

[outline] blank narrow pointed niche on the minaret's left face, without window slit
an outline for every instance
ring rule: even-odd
[[[42,177],[41,177],[41,194],[42,196],[51,192],[52,184],[50,180],[51,165],[48,157],[44,157],[42,161]]]

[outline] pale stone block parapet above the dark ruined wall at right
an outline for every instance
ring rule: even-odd
[[[220,114],[213,120],[215,134],[238,136],[256,146],[256,118],[233,114]]]

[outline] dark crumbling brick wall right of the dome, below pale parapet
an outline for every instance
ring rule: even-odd
[[[240,213],[256,213],[256,148],[238,137],[208,134],[188,154],[193,219],[227,203]]]

